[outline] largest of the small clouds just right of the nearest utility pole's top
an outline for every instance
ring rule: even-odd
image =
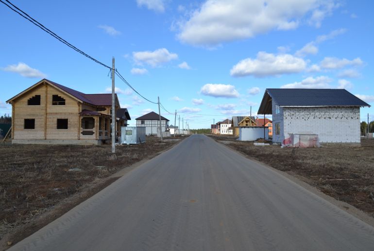
[[[152,67],[156,67],[163,63],[167,63],[171,60],[177,59],[178,55],[175,53],[170,53],[165,48],[161,48],[153,52],[133,52],[133,58],[137,65],[142,65],[143,63],[146,63],[148,65],[151,65]]]

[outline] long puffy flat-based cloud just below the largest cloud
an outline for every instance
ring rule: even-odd
[[[234,65],[230,74],[234,77],[253,75],[266,77],[297,73],[305,70],[306,62],[291,54],[274,55],[266,52],[257,53],[255,59],[246,58]]]

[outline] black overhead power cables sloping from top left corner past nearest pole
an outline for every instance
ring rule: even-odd
[[[45,31],[46,33],[50,34],[51,36],[53,36],[54,38],[56,38],[57,40],[59,40],[60,42],[66,44],[68,47],[70,47],[71,49],[73,49],[74,51],[84,55],[85,57],[93,60],[94,62],[112,70],[112,68],[110,66],[107,66],[106,64],[100,62],[99,60],[93,58],[92,56],[86,54],[85,52],[83,52],[82,50],[78,49],[77,47],[75,47],[74,45],[70,44],[68,41],[66,41],[64,38],[62,38],[61,36],[58,36],[57,34],[55,34],[54,32],[52,32],[50,29],[48,29],[47,27],[45,27],[43,24],[39,23],[38,21],[36,21],[34,18],[32,18],[29,14],[27,14],[26,12],[22,11],[21,9],[19,9],[16,5],[14,5],[13,3],[11,3],[9,0],[5,0],[6,2],[8,2],[10,5],[8,5],[6,2],[4,2],[3,0],[0,0],[0,2],[2,2],[3,4],[5,4],[9,9],[11,9],[12,11],[16,12],[18,15],[20,15],[22,18],[25,18],[27,19],[28,21],[32,22],[34,25],[36,25],[37,27],[39,27],[40,29],[42,29],[43,31]],[[142,97],[143,99],[147,100],[148,102],[151,102],[153,104],[157,104],[156,102],[153,102],[147,98],[145,98],[143,95],[141,95],[138,91],[136,91],[130,84],[129,82],[126,81],[126,79],[117,71],[117,69],[115,70],[115,73],[117,74],[117,76],[119,76],[119,78],[128,86],[130,87],[132,90],[134,90],[140,97]]]

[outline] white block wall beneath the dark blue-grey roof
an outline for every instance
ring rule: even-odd
[[[280,141],[277,138],[274,142],[281,142],[284,135],[288,133],[311,133],[318,134],[321,143],[360,143],[359,107],[280,109],[282,112],[275,116],[277,118],[278,115],[283,115],[280,135],[282,137]],[[277,118],[277,120],[281,119]],[[274,119],[273,124],[275,124]]]

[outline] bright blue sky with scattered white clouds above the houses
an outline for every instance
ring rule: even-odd
[[[114,56],[138,92],[159,96],[190,128],[249,115],[251,106],[256,115],[266,88],[344,88],[374,104],[373,1],[12,2],[99,61],[111,65]],[[2,3],[0,22],[1,114],[11,113],[6,100],[44,77],[85,93],[110,88],[106,68]],[[116,86],[131,125],[158,111],[119,78]],[[374,120],[374,108],[361,108],[362,120],[367,113]]]

